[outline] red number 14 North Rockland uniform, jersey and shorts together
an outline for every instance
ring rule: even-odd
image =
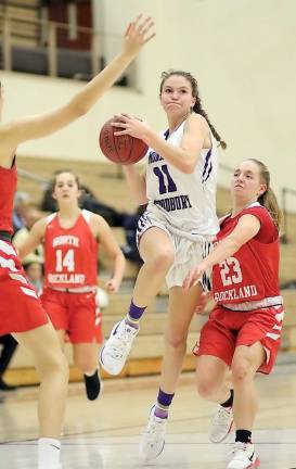
[[[41,301],[53,326],[67,332],[72,343],[103,340],[95,304],[98,243],[90,229],[91,212],[81,211],[70,228],[59,214],[48,217],[44,233],[44,290]]]

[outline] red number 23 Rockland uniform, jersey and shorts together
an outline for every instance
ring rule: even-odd
[[[217,234],[221,241],[250,214],[259,219],[258,233],[231,257],[213,268],[217,306],[201,331],[197,355],[214,355],[231,365],[237,345],[261,342],[267,362],[258,371],[269,373],[281,342],[283,301],[279,289],[279,231],[267,208],[255,203],[237,216],[224,217]]]

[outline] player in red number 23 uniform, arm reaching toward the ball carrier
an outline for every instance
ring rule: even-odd
[[[213,440],[236,427],[233,457],[228,469],[259,466],[252,443],[257,411],[254,378],[269,373],[281,342],[283,300],[279,289],[279,227],[281,213],[270,189],[263,163],[244,161],[232,180],[233,208],[221,220],[214,251],[190,272],[190,288],[213,267],[217,303],[201,331],[197,389],[204,397],[222,403],[213,421]],[[226,383],[231,370],[233,390]]]

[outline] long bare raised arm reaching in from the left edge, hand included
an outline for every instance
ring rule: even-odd
[[[0,164],[8,163],[21,142],[53,134],[86,114],[154,36],[152,26],[150,17],[139,16],[132,22],[125,34],[121,52],[65,105],[1,126]]]

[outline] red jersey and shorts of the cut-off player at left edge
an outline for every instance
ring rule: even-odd
[[[13,233],[12,210],[16,190],[15,161],[10,169],[0,166],[0,334],[25,332],[43,326],[49,318],[34,287],[8,240]]]

